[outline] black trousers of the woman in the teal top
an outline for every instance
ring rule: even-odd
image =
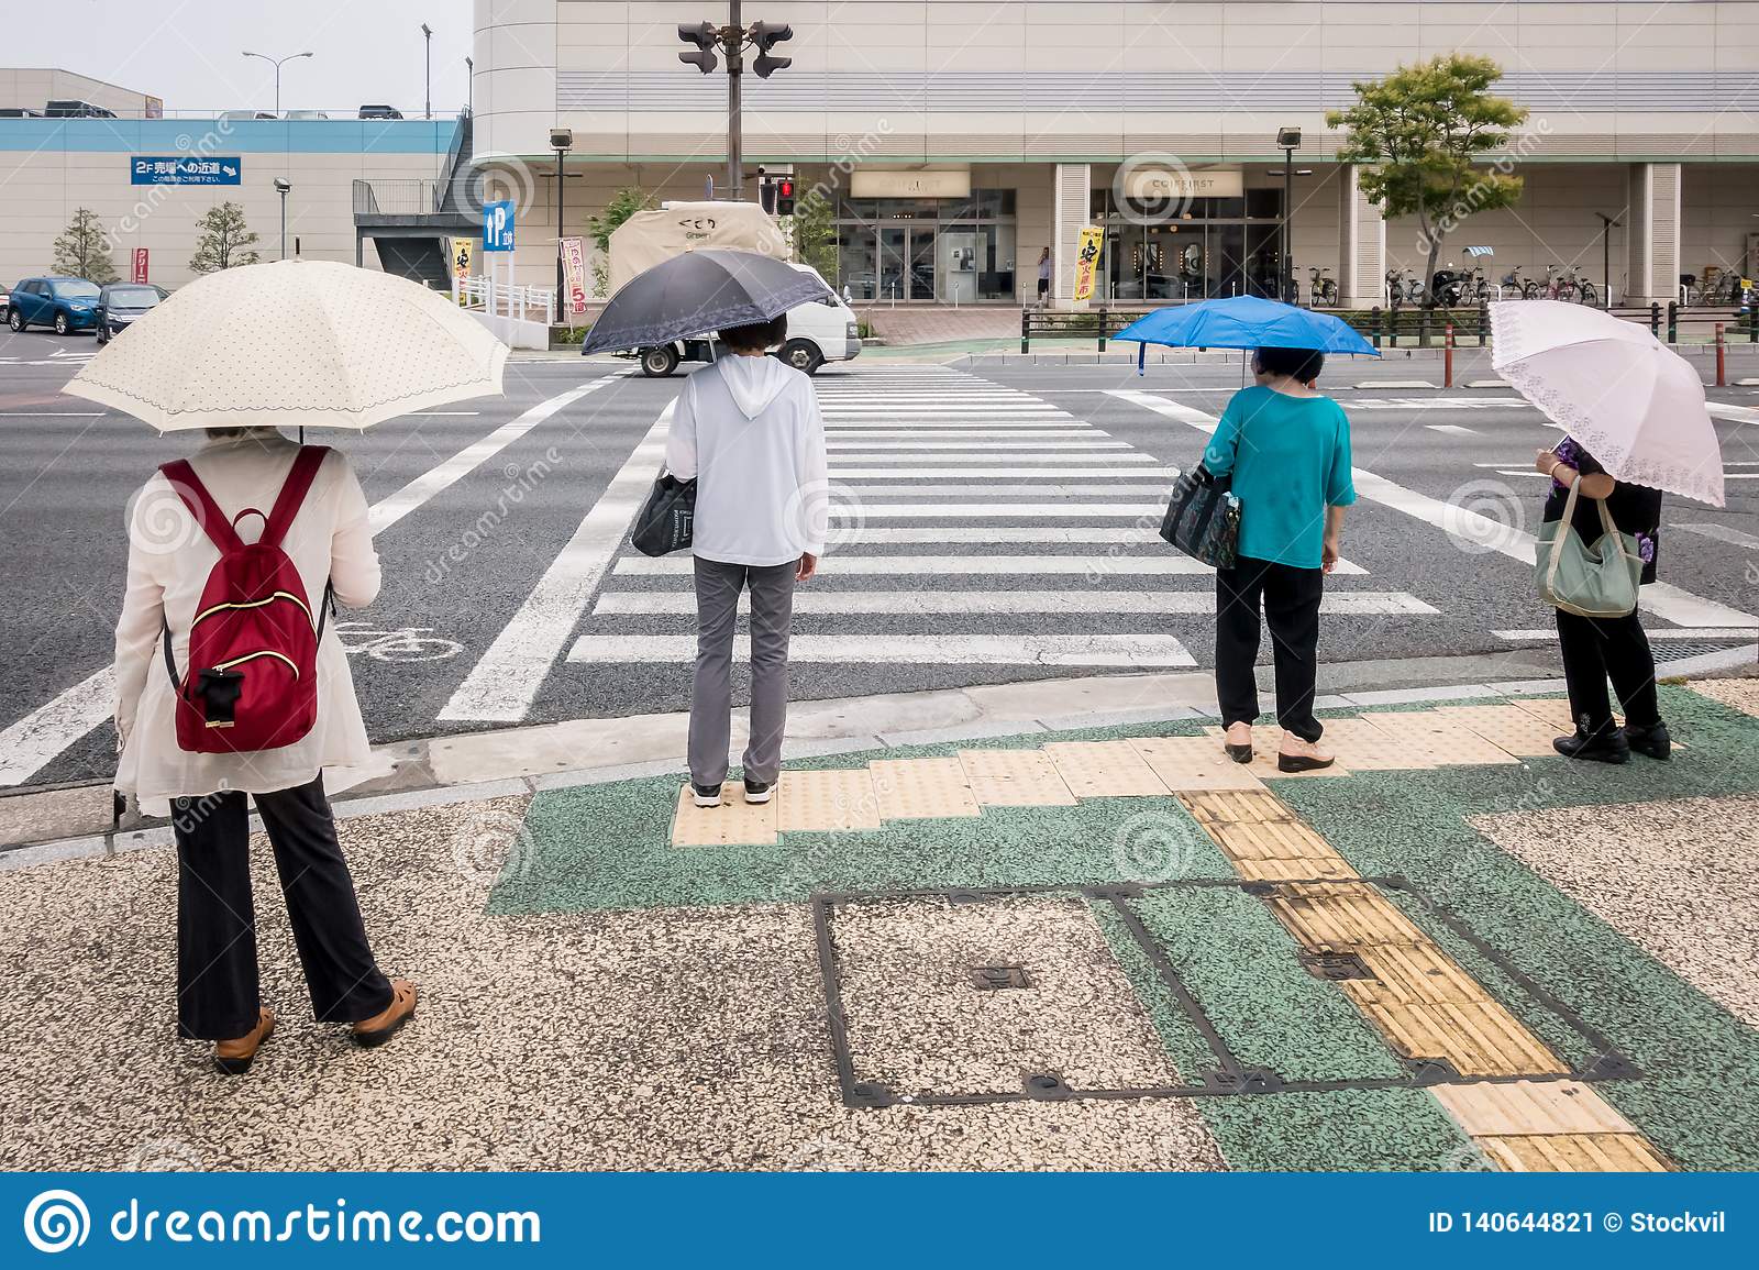
[[[1215,695],[1221,723],[1258,718],[1258,610],[1265,609],[1270,651],[1277,663],[1277,721],[1303,741],[1325,734],[1314,718],[1314,677],[1319,672],[1319,598],[1325,572],[1242,556],[1215,570]]]

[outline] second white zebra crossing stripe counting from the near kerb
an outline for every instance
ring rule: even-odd
[[[827,575],[834,575],[836,556],[825,558]],[[598,596],[595,617],[688,616],[697,612],[690,591],[609,591]],[[739,612],[751,612],[751,598],[741,596]],[[1212,591],[811,591],[793,596],[793,612],[862,616],[939,616],[939,614],[1212,614]],[[1414,595],[1404,591],[1333,591],[1319,612],[1339,616],[1418,614],[1439,616]]]

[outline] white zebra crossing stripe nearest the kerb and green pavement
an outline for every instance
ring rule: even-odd
[[[734,637],[734,658],[749,660],[751,637]],[[688,663],[695,635],[582,635],[570,661],[598,665]],[[795,635],[792,663],[1020,665],[1020,667],[1194,667],[1170,635]]]

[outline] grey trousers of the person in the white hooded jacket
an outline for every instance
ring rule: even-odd
[[[726,779],[734,714],[734,624],[739,593],[751,588],[751,742],[748,781],[774,785],[788,725],[788,628],[795,563],[723,565],[697,556],[697,681],[690,698],[690,779]]]

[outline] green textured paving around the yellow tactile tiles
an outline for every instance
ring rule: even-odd
[[[1617,929],[1497,848],[1471,816],[1759,792],[1759,723],[1697,693],[1664,688],[1662,711],[1690,748],[1673,763],[1620,769],[1530,760],[1506,767],[1356,772],[1274,790],[1365,874],[1402,874],[1643,1069],[1601,1094],[1683,1168],[1759,1168],[1759,1033]],[[1423,709],[1427,704],[1414,705]],[[1360,711],[1340,711],[1356,714]],[[1201,721],[1033,734],[869,758],[1038,748],[1047,741],[1193,735]],[[976,820],[894,821],[864,834],[790,834],[770,848],[672,848],[677,779],[540,793],[529,850],[496,883],[498,915],[800,902],[823,892],[1001,888],[1105,881],[1226,880],[1233,869],[1171,799],[1075,807],[989,807]],[[1126,844],[1120,848],[1120,843]],[[1147,843],[1147,850],[1131,844]],[[1147,867],[1145,867],[1147,865]],[[1412,895],[1390,892],[1536,1036],[1569,1061],[1587,1041]],[[1129,901],[1217,1031],[1249,1066],[1302,1078],[1397,1077],[1379,1033],[1312,978],[1263,902],[1237,888],[1164,888]],[[1152,964],[1110,904],[1096,918],[1168,1055],[1191,1082],[1214,1068]],[[1483,1168],[1476,1147],[1423,1091],[1198,1099],[1233,1168]]]

